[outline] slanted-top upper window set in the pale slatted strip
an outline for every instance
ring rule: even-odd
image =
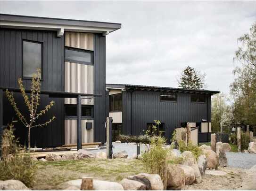
[[[65,48],[65,61],[72,61],[81,64],[93,64],[93,52],[78,48]]]

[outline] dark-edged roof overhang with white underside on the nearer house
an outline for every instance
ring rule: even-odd
[[[106,36],[110,32],[120,29],[121,24],[0,14],[0,27],[57,31],[58,37],[61,37],[64,31],[102,33],[103,36]]]

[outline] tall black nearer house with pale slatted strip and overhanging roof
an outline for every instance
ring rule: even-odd
[[[31,146],[52,147],[76,144],[76,96],[82,99],[82,143],[105,143],[106,35],[121,28],[104,23],[58,18],[0,14],[0,128],[17,120],[4,91],[17,90],[22,78],[30,89],[31,76],[40,68],[41,103],[54,107],[41,118],[56,120],[31,132]],[[25,111],[22,95],[15,93],[18,107]],[[80,116],[80,115],[79,115]],[[27,129],[15,123],[20,143],[27,143]]]

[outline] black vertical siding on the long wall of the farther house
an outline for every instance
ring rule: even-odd
[[[166,138],[171,138],[175,127],[181,122],[211,121],[211,96],[208,104],[191,103],[190,94],[177,94],[177,102],[161,102],[160,92],[123,92],[123,133],[140,135],[148,122],[160,120],[165,123]],[[132,104],[131,104],[132,103]],[[208,115],[207,115],[208,112]]]

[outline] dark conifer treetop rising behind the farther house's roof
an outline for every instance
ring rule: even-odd
[[[194,68],[188,66],[182,71],[180,79],[178,80],[179,87],[188,89],[202,89],[206,87],[206,74],[201,74]]]

